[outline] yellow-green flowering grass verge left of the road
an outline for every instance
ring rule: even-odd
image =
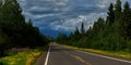
[[[26,51],[9,52],[9,56],[0,58],[0,65],[33,65],[35,61],[47,50],[46,48],[29,49]]]

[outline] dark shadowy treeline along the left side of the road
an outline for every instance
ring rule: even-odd
[[[47,42],[48,39],[33,26],[31,20],[25,22],[16,0],[5,0],[4,4],[0,4],[0,55],[11,48],[35,48]]]

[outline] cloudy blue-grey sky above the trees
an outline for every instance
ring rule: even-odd
[[[122,2],[131,0],[121,0]],[[26,20],[31,18],[40,32],[56,37],[58,32],[70,34],[80,27],[85,28],[98,17],[105,17],[110,2],[116,0],[19,0]]]

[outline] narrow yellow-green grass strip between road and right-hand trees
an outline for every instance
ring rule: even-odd
[[[131,53],[126,52],[126,51],[103,51],[103,50],[76,48],[76,47],[71,47],[71,46],[64,46],[64,47],[68,47],[68,48],[74,49],[74,50],[102,54],[102,55],[105,55],[105,56],[111,56],[111,57],[117,57],[117,58],[131,61]]]

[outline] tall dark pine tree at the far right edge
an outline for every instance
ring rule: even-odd
[[[121,23],[121,27],[122,27],[122,35],[124,36],[124,38],[131,38],[131,10],[130,10],[130,4],[128,2],[124,3],[124,8],[123,8],[123,15],[122,15],[122,23]]]

